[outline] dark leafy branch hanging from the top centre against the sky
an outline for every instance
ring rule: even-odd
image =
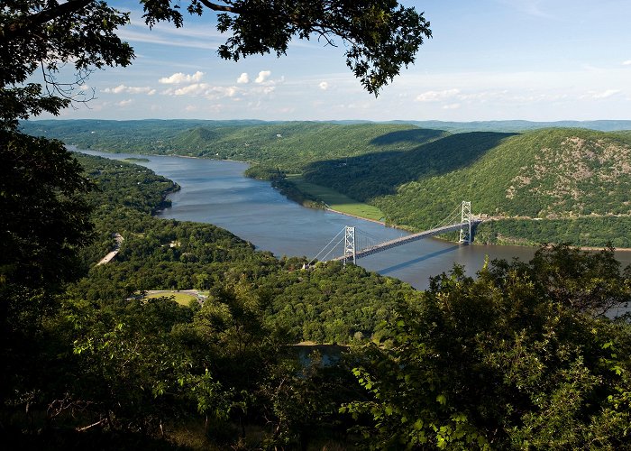
[[[150,26],[163,20],[176,26],[183,23],[178,5],[162,0],[143,0],[142,4]],[[191,0],[187,11],[201,15],[205,8],[219,13],[220,32],[232,34],[219,46],[219,56],[225,60],[270,52],[281,56],[294,37],[316,37],[333,46],[337,37],[346,48],[346,64],[375,96],[402,66],[414,62],[424,38],[432,36],[422,13],[392,0],[236,0],[221,4]]]

